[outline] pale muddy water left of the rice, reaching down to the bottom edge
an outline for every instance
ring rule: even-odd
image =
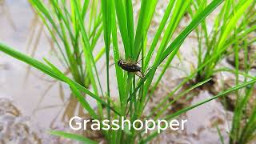
[[[46,34],[40,33],[40,24],[34,24],[35,14],[28,2],[8,0],[0,3],[0,41],[35,58],[49,58],[59,65],[50,53],[51,45]],[[33,29],[34,37],[31,37]],[[20,110],[19,115],[0,114],[0,126],[4,126],[0,143],[57,142],[45,130],[63,127],[58,114],[63,113],[69,102],[68,87],[6,54],[1,53],[0,58],[0,98],[2,103],[9,102],[11,105],[1,108],[11,110],[15,106]],[[3,101],[3,98],[8,100]]]

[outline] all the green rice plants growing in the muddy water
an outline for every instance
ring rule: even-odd
[[[144,118],[154,120],[162,118],[170,121],[206,102],[236,92],[238,105],[234,110],[230,143],[246,143],[255,136],[256,107],[254,106],[247,118],[246,126],[241,126],[240,122],[244,116],[242,113],[250,99],[256,78],[250,76],[250,66],[247,66],[245,72],[240,72],[238,63],[235,70],[214,70],[214,68],[226,56],[228,48],[234,47],[235,58],[238,59],[240,42],[244,42],[244,46],[252,43],[252,41],[246,42],[246,35],[256,29],[253,25],[255,13],[250,10],[255,6],[255,1],[227,0],[222,2],[223,0],[213,0],[210,3],[207,3],[206,0],[170,0],[156,34],[154,34],[152,42],[149,42],[147,35],[158,0],[142,0],[138,19],[134,19],[132,0],[101,0],[101,2],[98,0],[91,2],[89,0],[84,2],[74,0],[70,3],[65,0],[52,0],[49,2],[49,6],[46,6],[42,0],[30,0],[34,10],[37,11],[49,30],[54,44],[62,56],[61,59],[70,70],[73,78],[68,78],[66,74],[46,59],[44,59],[46,64],[39,62],[2,43],[0,43],[0,50],[41,70],[52,78],[68,84],[74,97],[87,110],[91,118],[98,120],[125,117],[130,119],[130,122],[134,122],[136,119],[145,120]],[[206,18],[218,7],[220,7],[220,13],[214,21],[212,32],[208,34]],[[87,14],[87,11],[90,11],[90,14]],[[186,12],[190,14],[191,22],[178,32],[178,26]],[[85,22],[86,19],[89,19],[89,22]],[[166,70],[170,67],[174,57],[178,56],[180,46],[192,31],[195,31],[198,36],[198,68],[184,78],[165,98],[162,98],[149,115],[145,115],[144,110],[154,90],[166,74]],[[178,35],[174,36],[174,32],[178,32]],[[162,38],[160,38],[161,35]],[[105,46],[98,54],[95,54],[94,49],[96,49],[95,46],[101,36],[104,38]],[[126,60],[138,62],[138,59],[142,59],[142,73],[145,74],[145,77],[138,78],[134,73],[122,70],[118,66],[121,51],[124,51]],[[102,57],[102,54],[106,54],[106,86],[100,81],[99,68],[96,66],[96,62]],[[118,94],[110,93],[111,54],[114,54]],[[248,64],[248,62],[246,63]],[[160,65],[163,68],[157,75],[156,71]],[[179,98],[209,82],[214,73],[225,70],[236,74],[236,86],[223,90],[214,97],[194,106],[187,106],[185,109],[177,110],[170,115],[164,114],[168,107]],[[238,82],[238,75],[245,77],[243,82]],[[111,80],[114,81],[113,79]],[[174,94],[192,79],[197,80],[196,84],[174,97]],[[89,90],[89,86],[92,87],[93,91]],[[103,87],[106,88],[106,91],[103,91]],[[245,93],[238,93],[238,90],[244,90]],[[86,101],[86,96],[90,96],[98,102],[97,110],[94,110]],[[118,100],[115,101],[114,97],[116,96],[118,96]],[[170,101],[171,97],[174,100]],[[121,123],[119,124],[121,125]],[[50,133],[85,143],[94,143],[90,139],[82,138],[76,134],[59,131]],[[145,134],[144,130],[134,129],[102,130],[102,134],[109,143],[135,143],[137,141],[138,143],[146,143],[158,136],[157,131]],[[221,137],[220,133],[219,135]]]

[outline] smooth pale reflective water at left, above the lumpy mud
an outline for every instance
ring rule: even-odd
[[[46,57],[61,67],[52,54],[53,43],[29,3],[26,0],[0,3],[0,41],[34,58]],[[76,112],[77,102],[70,100],[66,85],[5,54],[0,54],[0,58],[0,97],[12,99],[22,114],[36,122],[40,120],[40,126],[54,127],[54,122],[66,120],[70,113]],[[70,107],[70,103],[74,103],[74,110],[63,109]]]

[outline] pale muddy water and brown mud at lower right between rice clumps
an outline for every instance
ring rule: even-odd
[[[166,88],[173,89],[177,86],[182,79],[173,80],[171,83],[164,83]],[[173,86],[174,85],[174,86]],[[187,90],[190,84],[183,86],[181,90],[178,90],[177,94],[183,90]],[[149,103],[149,109],[146,109],[145,113],[154,110],[154,105],[161,101],[168,92],[163,86],[159,86],[155,91],[153,97]],[[210,98],[212,94],[207,90],[206,86],[202,86],[198,89],[192,90],[189,94],[186,94],[177,102],[174,102],[165,114],[173,114],[177,110],[181,110],[184,107],[191,106],[196,102],[202,101],[202,99]],[[174,98],[170,97],[170,101]],[[225,142],[229,141],[226,130],[227,124],[231,121],[231,113],[224,112],[224,108],[218,100],[207,103],[206,106],[202,106],[198,109],[191,110],[186,114],[180,115],[178,118],[187,118],[188,124],[185,131],[170,131],[166,130],[159,135],[158,138],[153,140],[153,143],[219,143],[216,125],[219,126]],[[163,115],[165,115],[163,114]]]

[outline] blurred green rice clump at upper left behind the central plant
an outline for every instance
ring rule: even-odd
[[[54,45],[58,48],[57,58],[59,61],[66,69],[70,70],[70,74],[76,82],[88,87],[90,79],[86,75],[89,74],[89,70],[86,70],[86,65],[82,64],[86,57],[82,50],[81,29],[74,14],[74,2],[49,1],[47,3],[42,0],[30,0],[29,2],[45,24]],[[102,13],[98,10],[98,0],[91,4],[89,1],[83,4],[78,2],[79,13],[82,14],[83,20],[87,18],[86,13],[89,11],[89,6],[90,14],[87,17],[90,18],[90,21],[85,26],[85,33],[88,36],[86,42],[90,45],[90,53],[92,53],[102,34]],[[94,59],[95,62],[104,54],[104,51],[105,48],[102,48],[98,52]]]

